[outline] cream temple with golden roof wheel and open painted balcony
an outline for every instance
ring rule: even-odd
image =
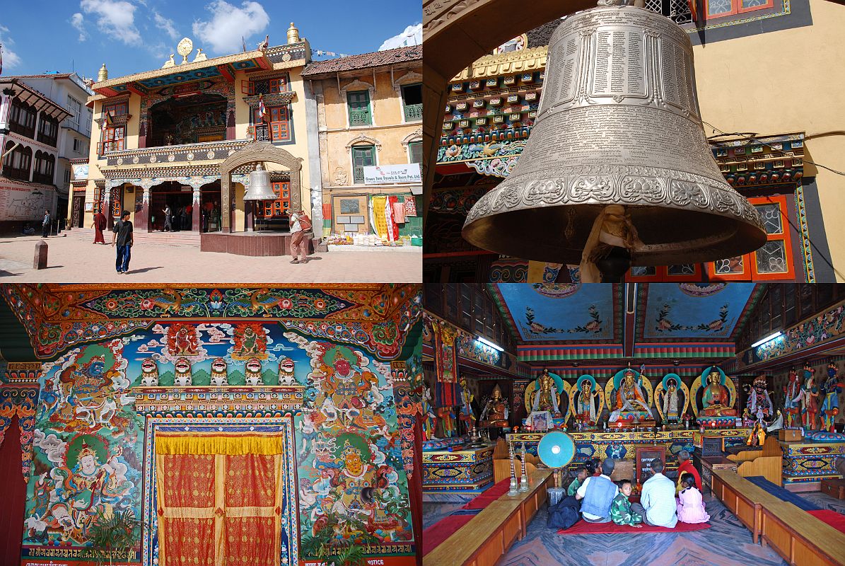
[[[308,41],[291,24],[284,45],[207,58],[185,38],[177,53],[112,79],[104,63],[91,85],[85,226],[102,208],[110,225],[127,210],[137,232],[161,231],[169,207],[168,228],[202,234],[203,249],[206,234],[287,233],[289,209],[311,213]],[[243,197],[256,162],[277,198],[253,207]]]

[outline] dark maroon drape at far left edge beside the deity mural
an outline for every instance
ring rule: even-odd
[[[6,430],[0,445],[0,564],[19,564],[20,546],[24,540],[26,484],[20,471],[20,429],[18,417]]]

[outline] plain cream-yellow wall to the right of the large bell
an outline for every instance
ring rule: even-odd
[[[837,281],[845,281],[845,6],[810,0],[813,25],[694,48],[701,117],[724,132],[805,132],[804,177],[816,177]],[[707,135],[712,130],[705,125]],[[825,135],[826,133],[832,133]],[[799,263],[801,258],[794,261]],[[814,261],[820,261],[815,254]]]

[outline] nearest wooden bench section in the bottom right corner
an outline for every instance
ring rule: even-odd
[[[762,509],[760,536],[793,566],[845,564],[845,533],[792,503],[778,501]]]

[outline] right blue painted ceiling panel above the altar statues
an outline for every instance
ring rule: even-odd
[[[755,283],[649,283],[642,338],[728,339],[754,288]]]

